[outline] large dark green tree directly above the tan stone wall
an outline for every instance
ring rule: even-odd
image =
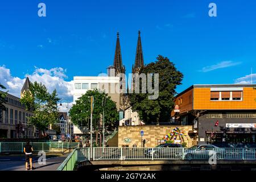
[[[159,55],[157,61],[141,68],[139,74],[158,73],[159,74],[159,97],[156,100],[148,100],[150,93],[129,94],[130,104],[139,117],[145,122],[153,121],[167,122],[171,118],[171,110],[174,107],[174,96],[176,86],[181,84],[183,74],[177,71],[174,63],[167,57]],[[152,78],[154,85],[154,76]],[[141,87],[141,84],[140,84]]]

